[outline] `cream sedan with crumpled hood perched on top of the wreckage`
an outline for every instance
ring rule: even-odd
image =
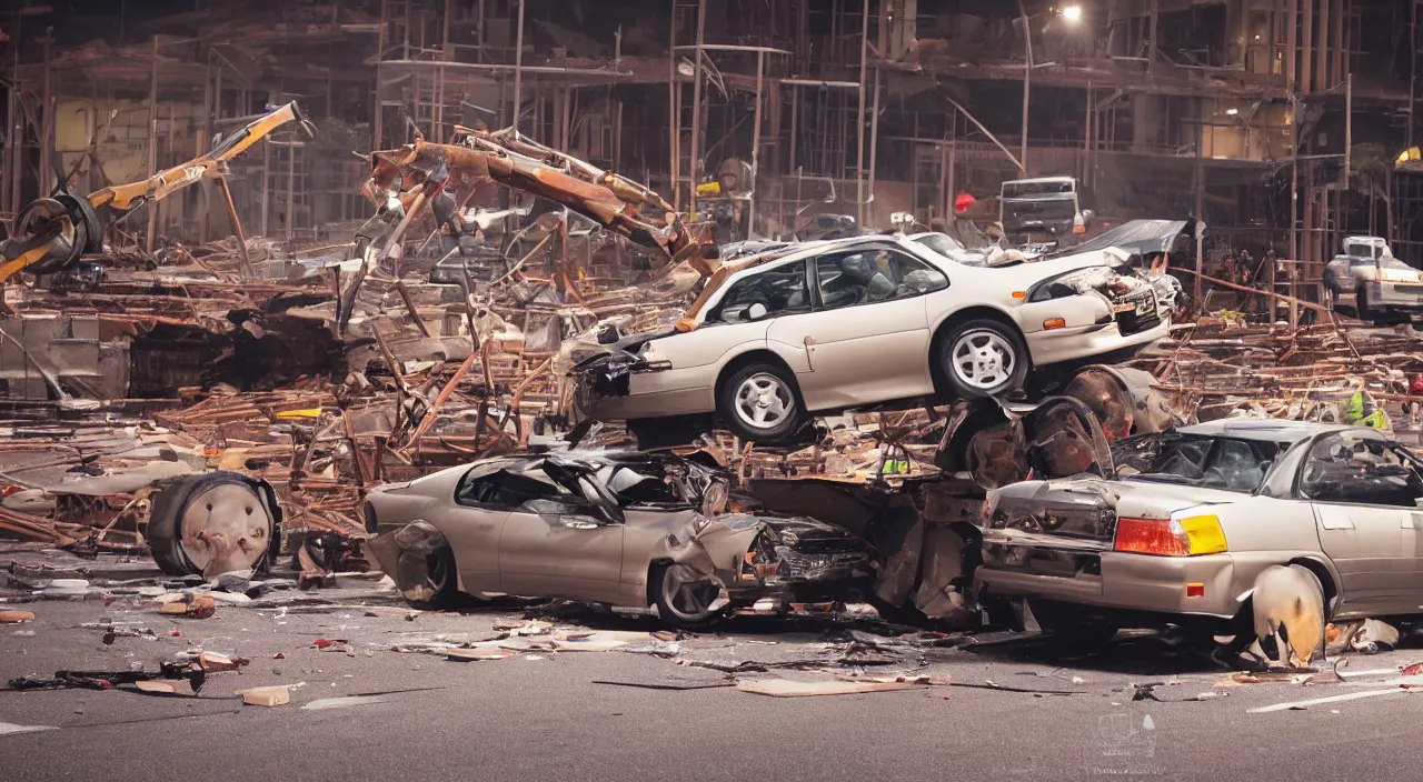
[[[777,442],[813,412],[1002,395],[1032,368],[1167,333],[1170,307],[1116,250],[989,267],[924,236],[783,245],[726,263],[677,331],[629,337],[575,365],[578,407],[633,431],[714,414],[747,439]]]

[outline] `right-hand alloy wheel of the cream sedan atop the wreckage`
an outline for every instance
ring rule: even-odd
[[[939,371],[956,398],[999,397],[1027,378],[1027,346],[1012,326],[968,320],[938,346]]]

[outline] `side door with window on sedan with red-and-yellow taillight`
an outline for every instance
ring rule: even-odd
[[[1301,468],[1319,545],[1342,579],[1340,611],[1416,613],[1423,601],[1419,527],[1423,478],[1376,432],[1319,438]]]

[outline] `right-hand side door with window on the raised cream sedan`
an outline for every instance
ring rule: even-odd
[[[811,259],[815,310],[778,317],[768,341],[805,351],[798,374],[810,409],[855,407],[933,391],[926,293],[948,279],[904,250],[857,247]]]

